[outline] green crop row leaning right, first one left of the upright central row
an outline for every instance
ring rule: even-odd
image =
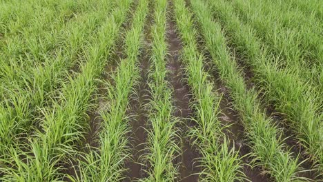
[[[123,1],[123,3],[129,3],[129,1]],[[128,9],[128,7],[124,8]],[[122,11],[120,9],[120,13],[124,14]],[[117,70],[111,74],[111,81],[104,81],[106,105],[100,110],[99,116],[102,121],[99,128],[99,148],[97,151],[90,150],[88,154],[83,154],[85,160],[79,161],[81,175],[77,177],[78,181],[124,179],[122,175],[125,170],[124,163],[130,158],[127,138],[130,131],[127,116],[128,99],[134,92],[139,77],[137,61],[147,12],[148,1],[139,1],[132,28],[126,32],[126,58],[120,60]]]

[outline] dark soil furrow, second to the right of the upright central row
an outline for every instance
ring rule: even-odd
[[[187,6],[190,7],[190,2],[186,1]],[[198,28],[197,28],[198,29]],[[199,37],[197,37],[198,49],[200,52],[204,54],[206,62],[204,63],[204,69],[208,72],[212,77],[211,80],[215,84],[214,92],[217,92],[218,95],[222,96],[222,99],[219,103],[219,110],[221,111],[218,118],[221,121],[222,125],[227,125],[228,127],[224,130],[228,139],[234,143],[235,148],[239,150],[239,156],[245,156],[242,158],[245,164],[251,163],[250,157],[246,156],[251,153],[251,148],[248,146],[248,142],[246,141],[246,133],[244,132],[244,126],[242,121],[239,119],[239,114],[236,110],[233,109],[233,105],[231,104],[232,99],[230,97],[230,93],[228,88],[226,88],[223,81],[221,81],[219,72],[217,68],[213,68],[213,61],[211,58],[210,52],[206,50],[205,42],[202,40],[202,35],[199,33]],[[251,72],[245,73],[247,78],[252,77]],[[247,82],[248,88],[253,87],[253,83]],[[233,147],[233,145],[231,145]],[[251,181],[269,181],[269,176],[263,175],[262,170],[259,167],[251,168],[249,165],[244,165],[244,173],[246,177]]]

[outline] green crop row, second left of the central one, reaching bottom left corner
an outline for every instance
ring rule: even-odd
[[[39,130],[26,148],[9,148],[8,165],[1,166],[6,181],[52,181],[63,177],[63,159],[75,151],[86,127],[86,111],[95,91],[95,79],[106,65],[106,57],[117,34],[117,23],[122,21],[124,6],[112,10],[111,19],[99,28],[97,36],[87,47],[80,73],[63,85],[59,100],[52,110],[43,111]],[[115,23],[117,21],[117,23]]]

